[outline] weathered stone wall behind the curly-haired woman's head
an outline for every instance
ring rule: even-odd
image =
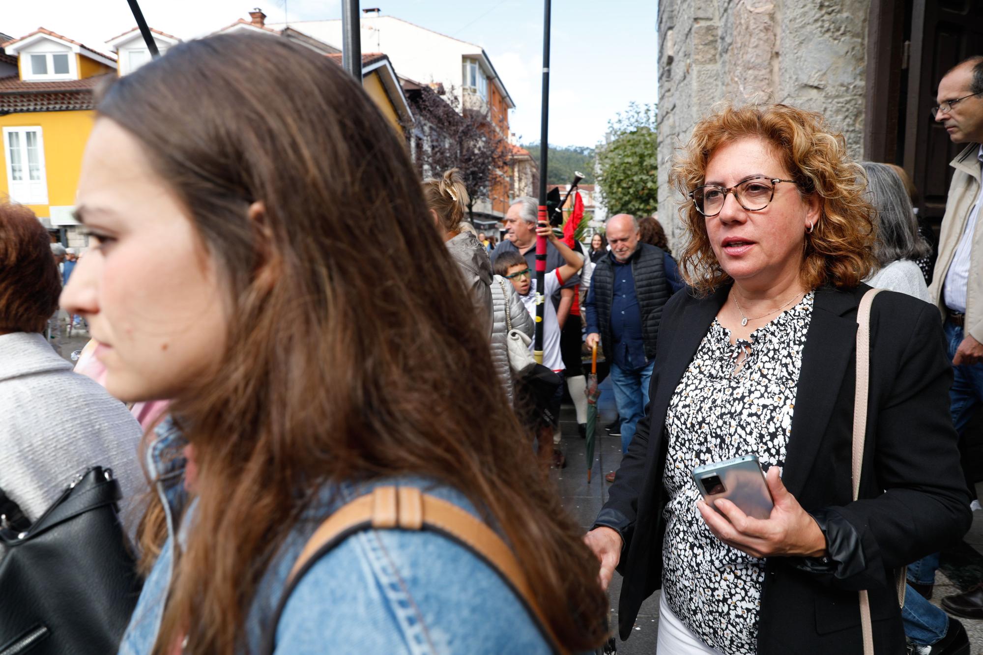
[[[823,112],[863,149],[870,0],[659,1],[659,214],[682,237],[668,186],[674,150],[721,102],[777,101]]]

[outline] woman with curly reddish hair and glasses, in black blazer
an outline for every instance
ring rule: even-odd
[[[700,121],[670,180],[693,292],[665,305],[648,416],[587,537],[602,579],[624,575],[621,636],[662,587],[660,653],[860,653],[864,631],[901,652],[896,570],[970,521],[938,312],[893,292],[873,305],[854,501],[856,321],[875,266],[862,169],[821,115],[752,105]],[[694,482],[743,455],[767,471],[767,517]]]

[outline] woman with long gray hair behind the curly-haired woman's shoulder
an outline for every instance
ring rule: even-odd
[[[877,208],[877,241],[874,256],[881,268],[866,281],[881,289],[899,291],[926,302],[928,287],[915,264],[932,247],[918,233],[918,219],[904,183],[888,164],[864,161],[870,202]]]

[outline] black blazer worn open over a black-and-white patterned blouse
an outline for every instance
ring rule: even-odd
[[[860,653],[857,590],[868,589],[878,654],[904,651],[894,571],[959,539],[972,520],[949,413],[952,365],[938,310],[883,292],[871,315],[870,394],[860,500],[850,458],[856,312],[863,293],[816,291],[795,396],[782,481],[806,511],[827,509],[855,531],[865,566],[807,572],[769,558],[758,629],[760,655]],[[621,638],[639,606],[662,586],[665,412],[686,367],[727,297],[676,293],[665,305],[649,414],[621,461],[596,525],[625,541],[618,570]],[[885,491],[886,490],[886,491]]]

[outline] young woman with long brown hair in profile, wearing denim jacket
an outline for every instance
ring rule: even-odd
[[[605,638],[599,566],[524,447],[488,336],[406,150],[341,68],[218,35],[107,89],[62,301],[106,387],[174,398],[146,444],[148,572],[121,653],[547,652]],[[194,474],[193,474],[194,472]],[[466,509],[545,615],[434,532],[369,530],[319,559],[325,516],[379,484]]]

